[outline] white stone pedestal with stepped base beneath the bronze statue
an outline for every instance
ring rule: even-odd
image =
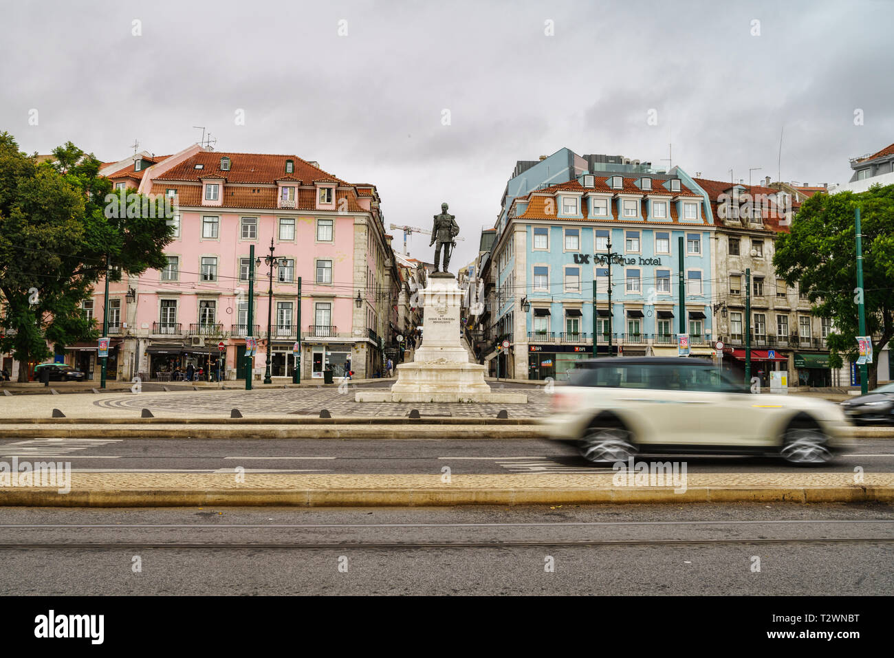
[[[358,402],[502,402],[525,404],[525,393],[493,393],[485,367],[468,362],[460,342],[463,291],[453,274],[435,273],[419,293],[423,311],[422,344],[412,363],[397,366],[391,391],[358,391]]]

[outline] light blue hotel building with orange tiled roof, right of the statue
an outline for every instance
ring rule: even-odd
[[[713,215],[704,191],[679,167],[664,173],[568,149],[551,158],[510,180],[497,223],[489,319],[493,342],[511,345],[496,350],[502,373],[562,379],[592,357],[594,342],[601,355],[611,343],[615,354],[676,356],[679,333],[691,354],[710,355]],[[562,163],[565,181],[536,182]]]

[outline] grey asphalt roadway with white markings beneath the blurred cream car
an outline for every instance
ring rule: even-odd
[[[409,428],[411,431],[411,427]],[[70,460],[73,471],[454,474],[592,473],[600,468],[573,446],[546,439],[25,439],[0,441],[0,460]],[[755,457],[663,457],[685,460],[688,473],[797,471]],[[894,472],[894,440],[861,439],[824,472]],[[601,468],[611,471],[611,468]]]

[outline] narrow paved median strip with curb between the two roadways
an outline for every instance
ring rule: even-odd
[[[0,505],[172,507],[221,505],[437,506],[625,502],[894,502],[894,474],[689,475],[685,491],[613,484],[611,473],[422,475],[72,473],[71,491],[0,487]],[[239,479],[244,481],[240,482]],[[679,483],[678,483],[679,484]]]

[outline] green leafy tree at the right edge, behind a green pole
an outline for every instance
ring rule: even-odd
[[[856,289],[854,211],[860,207],[864,290]],[[797,283],[814,315],[831,318],[831,366],[844,355],[856,360],[857,300],[862,296],[866,333],[878,355],[894,336],[894,185],[860,193],[814,194],[798,210],[791,232],[776,240],[773,265],[786,283]],[[869,365],[869,387],[878,384],[878,359]]]

